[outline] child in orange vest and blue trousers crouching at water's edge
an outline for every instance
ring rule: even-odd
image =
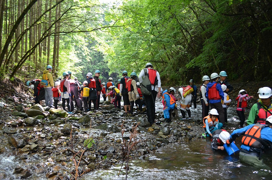
[[[218,115],[219,114],[216,109],[211,109],[209,115],[203,118],[203,128],[206,131],[205,133],[207,137],[211,137],[215,130],[223,127],[223,124],[218,121]]]

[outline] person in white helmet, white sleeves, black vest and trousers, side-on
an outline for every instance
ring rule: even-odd
[[[208,103],[206,98],[206,88],[207,88],[207,84],[209,83],[209,80],[210,80],[209,76],[203,76],[202,77],[203,84],[200,86],[200,102],[202,105],[202,119],[209,115],[210,104]]]

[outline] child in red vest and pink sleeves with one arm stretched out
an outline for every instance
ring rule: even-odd
[[[253,96],[249,96],[247,92],[242,89],[238,93],[238,97],[235,99],[237,101],[237,108],[236,112],[238,114],[238,117],[240,119],[240,126],[239,128],[242,128],[244,126],[245,116],[244,116],[244,110],[248,107],[248,100],[254,98]]]

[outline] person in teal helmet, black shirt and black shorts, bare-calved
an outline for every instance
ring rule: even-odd
[[[125,113],[128,114],[130,112],[130,101],[128,99],[128,89],[126,88],[126,82],[129,79],[128,72],[123,71],[123,77],[120,79],[120,96],[123,96],[124,101],[124,109]]]

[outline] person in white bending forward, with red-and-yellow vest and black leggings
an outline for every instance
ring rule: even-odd
[[[186,120],[185,117],[185,109],[187,110],[188,113],[188,119],[192,119],[191,118],[191,104],[192,104],[192,98],[193,95],[191,93],[189,93],[188,95],[186,95],[185,97],[183,96],[183,90],[186,91],[186,88],[179,88],[179,95],[181,96],[181,101],[180,101],[180,112],[182,115],[182,119],[180,120]],[[180,98],[178,98],[178,100],[180,100]]]

